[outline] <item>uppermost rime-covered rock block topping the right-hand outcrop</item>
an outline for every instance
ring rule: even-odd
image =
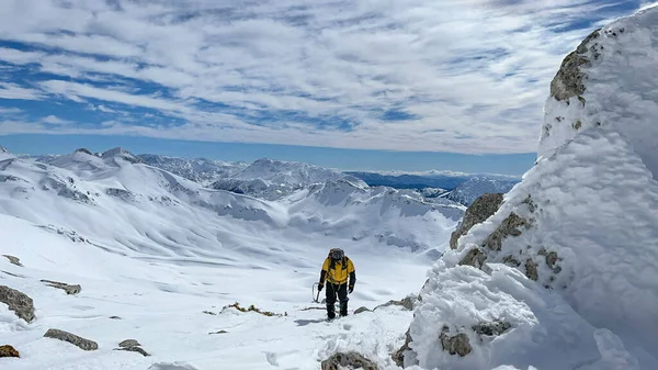
[[[592,127],[619,132],[657,178],[656,9],[594,31],[569,54],[551,83],[538,156]]]

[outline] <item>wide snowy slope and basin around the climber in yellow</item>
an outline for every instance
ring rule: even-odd
[[[0,343],[21,352],[0,367],[16,370],[317,369],[352,349],[390,368],[411,312],[354,310],[413,294],[463,212],[345,180],[268,202],[205,189],[125,150],[77,150],[53,165],[0,156],[1,251],[22,264],[0,256],[0,285],[29,294],[36,316],[26,323],[0,303]],[[359,281],[351,315],[326,323],[310,288],[332,247],[352,258]],[[281,316],[223,310],[236,301]],[[48,328],[99,349],[44,338]],[[114,350],[128,338],[151,356]]]

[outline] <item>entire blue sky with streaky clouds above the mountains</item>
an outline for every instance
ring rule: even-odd
[[[563,57],[648,4],[4,0],[0,144],[519,175]]]

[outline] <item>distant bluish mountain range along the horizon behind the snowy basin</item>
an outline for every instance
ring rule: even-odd
[[[330,181],[347,181],[355,187],[385,187],[407,190],[409,197],[428,202],[454,201],[469,205],[484,192],[507,192],[519,178],[503,175],[472,175],[452,171],[381,172],[339,171],[305,162],[261,158],[252,164],[228,162],[206,158],[180,158],[152,154],[132,155],[115,148],[103,154],[82,152],[97,157],[121,154],[133,162],[144,162],[203,187],[248,194],[264,200],[276,200],[305,187]],[[112,153],[110,153],[112,152]],[[115,153],[116,152],[116,153]],[[32,156],[41,162],[57,165],[60,155]],[[443,199],[439,201],[439,199]]]

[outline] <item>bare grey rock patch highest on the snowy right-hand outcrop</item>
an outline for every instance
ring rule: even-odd
[[[585,93],[583,79],[587,79],[587,76],[581,71],[580,67],[590,65],[589,51],[592,52],[591,57],[598,58],[595,44],[591,46],[589,44],[599,37],[600,30],[592,32],[580,43],[575,52],[565,57],[559,70],[551,81],[552,97],[557,100],[568,100],[569,98],[580,97]]]

